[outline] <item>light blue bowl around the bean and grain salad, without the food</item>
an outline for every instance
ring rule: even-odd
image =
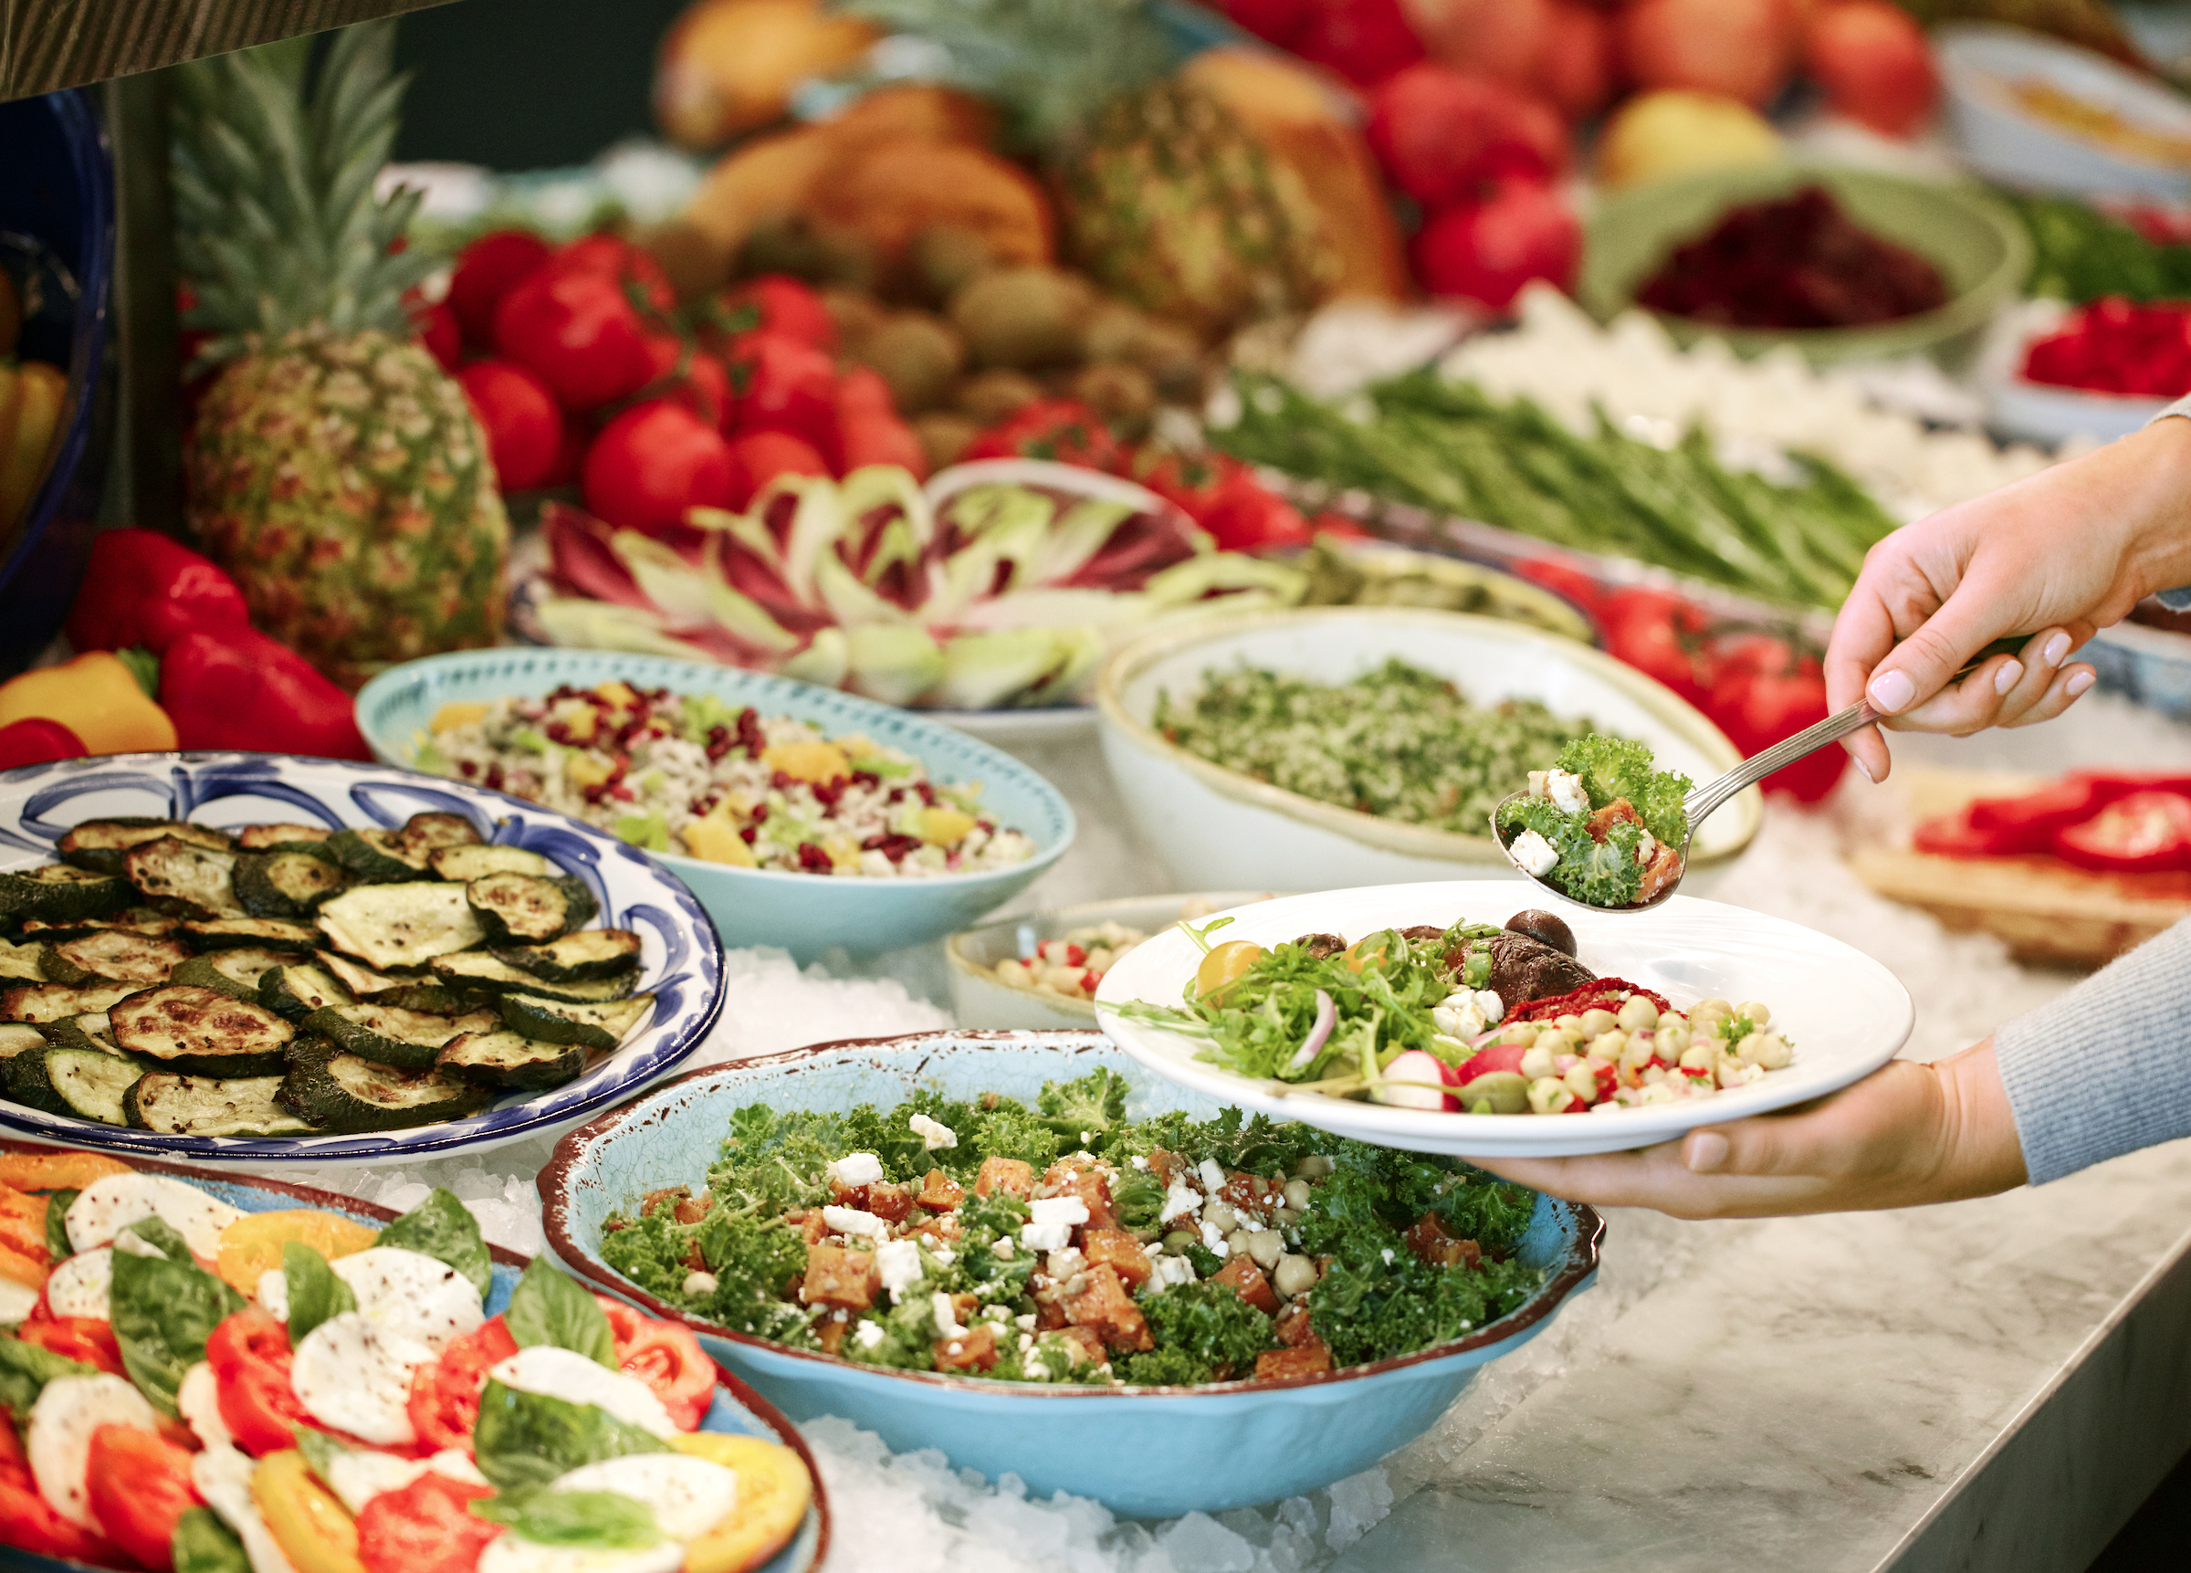
[[[357,694],[357,727],[375,754],[410,767],[418,734],[451,699],[539,697],[563,684],[592,688],[611,679],[675,694],[714,694],[727,705],[752,705],[762,716],[798,716],[830,734],[865,732],[918,758],[931,780],[982,782],[982,806],[997,824],[1034,839],[1034,857],[1025,863],[936,879],[787,874],[651,852],[699,896],[723,944],[778,944],[804,964],[833,944],[874,955],[940,940],[1023,892],[1074,841],[1074,811],[1065,797],[1010,754],[896,705],[710,662],[521,646],[429,655],[366,684]]]

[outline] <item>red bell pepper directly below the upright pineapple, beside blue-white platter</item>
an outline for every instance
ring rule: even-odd
[[[177,747],[370,760],[357,705],[311,662],[254,629],[184,633],[160,662]]]

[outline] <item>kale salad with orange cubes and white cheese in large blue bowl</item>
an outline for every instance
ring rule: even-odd
[[[841,1360],[1192,1387],[1332,1371],[1496,1321],[1542,1284],[1536,1194],[1459,1159],[1238,1109],[1126,1117],[1098,1069],[1034,1106],[747,1106],[706,1185],[635,1196],[603,1258],[657,1299]]]

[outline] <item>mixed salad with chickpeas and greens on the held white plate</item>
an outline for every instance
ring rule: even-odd
[[[1665,995],[1597,977],[1556,914],[1214,942],[1181,1006],[1128,1021],[1201,1038],[1196,1058],[1286,1091],[1470,1115],[1617,1113],[1748,1087],[1794,1060],[1759,1001]]]

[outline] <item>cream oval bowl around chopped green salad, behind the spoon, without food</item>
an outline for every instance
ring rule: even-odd
[[[1203,673],[1262,666],[1347,681],[1400,657],[1459,684],[1479,705],[1540,699],[1556,714],[1648,743],[1663,769],[1709,780],[1742,756],[1663,684],[1573,640],[1457,611],[1330,607],[1209,618],[1152,633],[1113,655],[1098,679],[1102,751],[1135,826],[1188,889],[1345,889],[1409,879],[1521,879],[1490,837],[1433,830],[1337,808],[1168,743],[1150,719]],[[1521,786],[1521,782],[1514,782]],[[1696,876],[1727,863],[1764,824],[1751,789],[1707,819]]]

